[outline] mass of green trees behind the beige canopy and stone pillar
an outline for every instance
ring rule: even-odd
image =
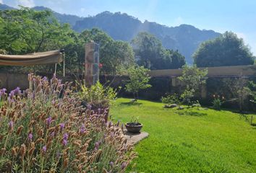
[[[101,74],[116,74],[118,68],[129,68],[135,63],[134,52],[129,43],[115,41],[105,32],[92,29],[77,33],[69,25],[60,24],[51,11],[21,9],[0,12],[0,53],[26,54],[54,49],[65,50],[67,72],[71,74],[84,71],[85,43],[94,40],[99,43]],[[59,64],[58,68],[62,68]],[[53,65],[1,67],[9,71],[54,72]]]

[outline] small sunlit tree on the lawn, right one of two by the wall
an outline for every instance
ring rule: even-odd
[[[191,105],[191,98],[194,97],[200,85],[206,82],[208,69],[200,70],[196,66],[183,66],[182,69],[182,76],[179,76],[178,79],[186,84],[186,89],[181,97],[185,104]]]

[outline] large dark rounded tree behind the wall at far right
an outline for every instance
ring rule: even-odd
[[[244,40],[233,32],[205,41],[193,57],[198,67],[250,65],[255,61]]]

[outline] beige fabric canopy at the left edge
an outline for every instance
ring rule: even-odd
[[[63,61],[60,50],[52,50],[27,55],[1,55],[0,66],[33,66],[48,63],[61,63]]]

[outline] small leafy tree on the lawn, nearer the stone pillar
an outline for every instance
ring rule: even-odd
[[[127,92],[132,92],[135,97],[135,101],[138,99],[138,92],[141,89],[147,89],[151,87],[148,82],[150,81],[150,76],[148,74],[150,70],[144,68],[143,66],[132,66],[128,68],[129,81],[125,85]]]

